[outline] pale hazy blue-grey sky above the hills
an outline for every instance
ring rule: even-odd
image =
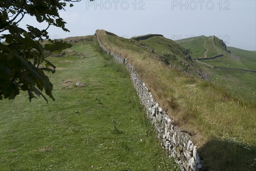
[[[96,29],[126,38],[150,33],[172,40],[215,35],[227,46],[256,50],[256,0],[81,0],[73,4],[61,11],[70,32],[52,26],[52,38],[93,35]],[[20,26],[26,23],[44,28],[30,17]]]

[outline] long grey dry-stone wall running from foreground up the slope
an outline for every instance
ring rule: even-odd
[[[97,34],[97,32],[96,32]],[[126,58],[122,58],[114,52],[111,52],[100,42],[99,45],[109,55],[112,55],[118,63],[125,64],[127,67],[134,87],[140,97],[141,104],[146,109],[147,116],[155,127],[157,137],[163,148],[169,156],[174,157],[175,162],[180,165],[182,171],[200,171],[202,170],[202,161],[198,157],[197,146],[190,140],[191,137],[181,128],[172,125],[171,119],[159,104],[152,98],[151,92],[148,91],[145,83],[139,78],[131,63]]]

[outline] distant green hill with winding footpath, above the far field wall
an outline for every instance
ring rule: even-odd
[[[210,58],[223,55],[215,59],[201,60],[204,63],[217,67],[256,70],[255,52],[227,47],[221,39],[215,36],[198,36],[175,42],[187,49],[192,58]]]

